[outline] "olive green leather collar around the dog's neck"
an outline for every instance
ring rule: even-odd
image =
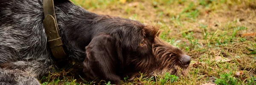
[[[70,1],[71,2],[71,1]],[[55,59],[63,59],[67,54],[63,48],[63,42],[59,35],[53,0],[44,0],[44,29],[47,34],[47,44],[51,48]]]

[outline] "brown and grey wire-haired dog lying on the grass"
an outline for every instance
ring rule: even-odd
[[[68,57],[83,64],[91,80],[119,84],[139,72],[148,76],[188,73],[191,58],[158,38],[158,28],[94,14],[54,0]],[[42,0],[0,0],[0,85],[39,85],[36,78],[58,63],[47,46]]]

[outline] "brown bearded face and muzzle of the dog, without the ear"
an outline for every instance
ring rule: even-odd
[[[120,42],[127,75],[137,75],[133,71],[140,71],[148,76],[163,75],[166,72],[177,76],[188,74],[187,67],[191,57],[161,40],[158,37],[159,28],[146,26],[137,21],[130,23],[133,26],[124,28]]]

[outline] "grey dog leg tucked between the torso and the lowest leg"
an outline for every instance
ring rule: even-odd
[[[1,68],[19,69],[21,71],[29,72],[35,77],[42,77],[45,74],[53,71],[53,62],[51,59],[34,60],[34,61],[17,61],[6,62],[1,64]]]

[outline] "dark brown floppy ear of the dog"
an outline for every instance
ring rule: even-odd
[[[84,59],[84,74],[90,79],[99,81],[104,79],[111,83],[119,84],[119,58],[116,49],[116,39],[108,34],[100,34],[93,37],[86,46],[86,58]]]

